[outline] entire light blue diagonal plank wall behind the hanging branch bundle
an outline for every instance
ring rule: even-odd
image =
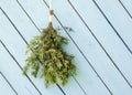
[[[48,88],[44,87],[42,78],[33,78],[30,72],[28,76],[21,74],[26,44],[47,27],[47,0],[0,1],[3,10],[0,10],[0,72],[19,95],[132,94],[132,19],[128,14],[132,10],[131,0],[120,0],[128,11],[119,0],[95,1],[97,4],[94,0],[53,1],[54,27],[75,30],[59,33],[69,39],[65,50],[76,55],[78,75],[70,77],[64,87],[52,85]],[[3,85],[0,85],[0,95],[15,95],[6,78],[0,74]]]

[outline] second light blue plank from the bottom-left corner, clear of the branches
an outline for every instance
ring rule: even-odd
[[[33,85],[22,75],[22,71],[18,67],[1,43],[0,57],[2,57],[0,60],[0,70],[3,72],[19,95],[40,95]]]

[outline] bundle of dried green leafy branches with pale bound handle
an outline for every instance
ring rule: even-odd
[[[30,67],[32,75],[36,77],[41,70],[41,77],[45,80],[46,87],[50,84],[65,85],[69,76],[76,75],[76,66],[73,64],[74,55],[66,53],[63,49],[63,44],[67,43],[68,40],[53,28],[53,10],[50,3],[48,27],[29,43],[26,54],[30,56],[25,60],[23,74],[26,74]]]

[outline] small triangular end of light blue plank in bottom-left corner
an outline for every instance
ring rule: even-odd
[[[9,83],[6,81],[6,77],[0,72],[0,94],[4,95],[18,95],[18,93],[12,89],[12,86],[9,85]]]

